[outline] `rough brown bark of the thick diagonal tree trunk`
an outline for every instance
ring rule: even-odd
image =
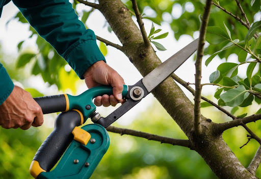
[[[161,64],[151,46],[144,48],[141,32],[120,0],[99,0],[99,4],[99,10],[123,45],[122,52],[143,76]],[[214,122],[202,116],[203,133],[200,136],[194,134],[194,105],[173,79],[168,78],[153,91],[153,95],[192,141],[192,147],[219,178],[256,178],[240,163],[222,136],[215,135]]]

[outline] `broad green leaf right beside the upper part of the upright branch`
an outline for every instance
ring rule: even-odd
[[[210,44],[217,45],[226,40],[230,40],[227,37],[225,31],[217,26],[207,27],[206,31],[206,41]]]

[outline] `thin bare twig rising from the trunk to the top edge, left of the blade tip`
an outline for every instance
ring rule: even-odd
[[[132,3],[133,3],[133,10],[134,10],[136,17],[137,17],[137,22],[139,23],[139,26],[140,26],[140,29],[141,29],[141,34],[142,34],[142,37],[143,37],[144,45],[147,48],[147,47],[149,47],[150,43],[149,43],[147,33],[145,31],[145,28],[144,28],[144,23],[142,22],[142,19],[141,19],[141,14],[140,14],[136,0],[132,0]]]

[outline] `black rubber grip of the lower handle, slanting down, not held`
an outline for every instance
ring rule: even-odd
[[[56,118],[54,131],[44,140],[33,160],[38,161],[45,171],[50,171],[73,140],[71,132],[74,127],[79,125],[81,116],[78,112],[60,113]]]

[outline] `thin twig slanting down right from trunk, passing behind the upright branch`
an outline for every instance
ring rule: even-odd
[[[195,95],[195,90],[193,88],[191,88],[190,86],[188,86],[188,84],[180,79],[176,74],[172,74],[171,77],[176,81],[178,82],[180,85],[184,86],[187,90],[189,90],[193,95]],[[215,106],[218,110],[222,111],[223,113],[225,113],[227,116],[231,117],[232,119],[236,119],[237,117],[232,115],[230,112],[228,112],[227,110],[225,110],[224,108],[218,106],[216,103],[214,103],[212,100],[210,99],[207,99],[203,96],[201,96],[201,99],[205,100],[207,103]]]

